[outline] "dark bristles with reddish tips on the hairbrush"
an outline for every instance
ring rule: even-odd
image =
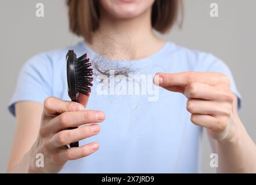
[[[92,63],[87,58],[85,53],[75,61],[75,81],[77,85],[77,91],[89,97],[91,93],[93,71]]]

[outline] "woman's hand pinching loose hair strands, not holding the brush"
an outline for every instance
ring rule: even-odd
[[[216,72],[157,73],[154,84],[184,94],[192,123],[207,128],[212,138],[237,134],[236,96],[230,91],[229,77]]]

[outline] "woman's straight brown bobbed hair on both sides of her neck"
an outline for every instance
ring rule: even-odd
[[[71,31],[91,42],[92,32],[99,27],[98,0],[67,0]],[[152,7],[152,27],[162,34],[176,22],[182,0],[156,0]],[[182,21],[181,21],[182,22]]]

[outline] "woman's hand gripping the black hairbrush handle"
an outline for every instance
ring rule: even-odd
[[[99,125],[90,123],[100,123],[104,119],[103,112],[85,110],[80,103],[46,98],[38,138],[28,151],[28,173],[56,173],[68,160],[77,160],[98,150],[99,144],[96,142],[70,149],[66,145],[98,134]],[[78,127],[80,125],[83,126]],[[78,128],[68,129],[70,127]],[[44,157],[44,167],[37,165],[38,154]]]

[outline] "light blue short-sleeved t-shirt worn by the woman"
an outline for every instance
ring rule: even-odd
[[[81,42],[74,47],[38,54],[26,62],[20,71],[16,91],[9,104],[13,115],[15,103],[18,101],[43,103],[44,99],[50,96],[70,100],[67,94],[65,60],[69,49],[73,49],[78,57],[88,53],[92,61],[100,60],[100,64],[107,64],[103,68],[114,69],[121,66],[131,69],[132,74],[145,75],[146,78],[141,80],[141,83],[140,79],[135,81],[139,82],[141,90],[146,90],[139,94],[131,90],[125,94],[123,88],[117,87],[117,83],[112,87],[122,90],[113,94],[110,83],[104,83],[104,80],[95,77],[86,109],[102,110],[106,114],[106,120],[100,123],[101,131],[98,135],[82,140],[80,145],[99,142],[100,148],[91,156],[68,161],[61,172],[199,172],[202,128],[190,122],[184,95],[164,88],[158,88],[157,94],[154,89],[156,86],[152,83],[152,78],[157,72],[221,72],[230,77],[231,90],[239,98],[240,106],[240,94],[232,73],[228,66],[211,54],[167,42],[162,49],[147,58],[136,61],[109,61],[99,57]],[[97,73],[96,69],[94,71]],[[141,84],[145,83],[148,88],[142,88]]]

